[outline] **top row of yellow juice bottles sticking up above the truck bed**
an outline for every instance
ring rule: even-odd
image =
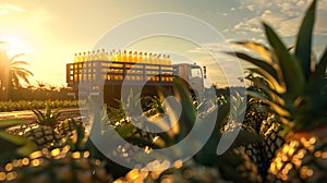
[[[169,54],[152,53],[152,52],[137,52],[137,51],[126,51],[123,52],[112,50],[108,53],[105,49],[101,51],[93,50],[92,52],[80,52],[74,56],[74,63],[85,62],[85,61],[123,61],[123,62],[140,62],[140,63],[155,63],[171,65],[171,60]]]

